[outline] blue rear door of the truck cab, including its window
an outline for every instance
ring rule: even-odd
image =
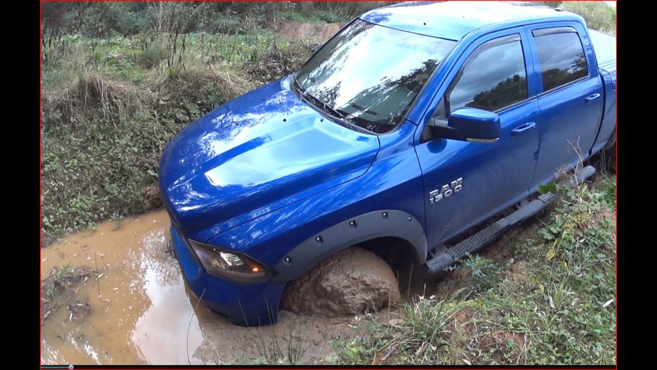
[[[602,82],[581,24],[526,27],[537,74],[541,133],[533,186],[587,159],[602,117]]]

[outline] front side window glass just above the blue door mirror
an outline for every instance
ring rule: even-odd
[[[527,99],[527,72],[519,35],[487,41],[474,51],[448,92],[449,111],[497,111]]]

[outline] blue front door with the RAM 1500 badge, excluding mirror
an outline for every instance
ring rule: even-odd
[[[447,75],[430,117],[461,107],[495,112],[502,134],[494,143],[420,139],[416,151],[425,191],[426,237],[436,246],[528,195],[536,165],[538,104],[522,28],[474,41]],[[420,127],[421,129],[421,127]]]

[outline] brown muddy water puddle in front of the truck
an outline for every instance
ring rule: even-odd
[[[156,211],[101,223],[41,250],[42,280],[68,263],[94,271],[59,295],[62,305],[43,323],[43,365],[252,363],[275,336],[284,351],[302,340],[302,363],[313,363],[334,354],[332,340],[354,335],[355,317],[281,311],[273,327],[242,328],[197,305],[168,251],[168,226],[166,212]],[[93,310],[86,315],[66,307],[87,298]]]

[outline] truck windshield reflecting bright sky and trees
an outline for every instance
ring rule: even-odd
[[[384,134],[455,44],[355,20],[300,70],[296,88],[332,117]]]

